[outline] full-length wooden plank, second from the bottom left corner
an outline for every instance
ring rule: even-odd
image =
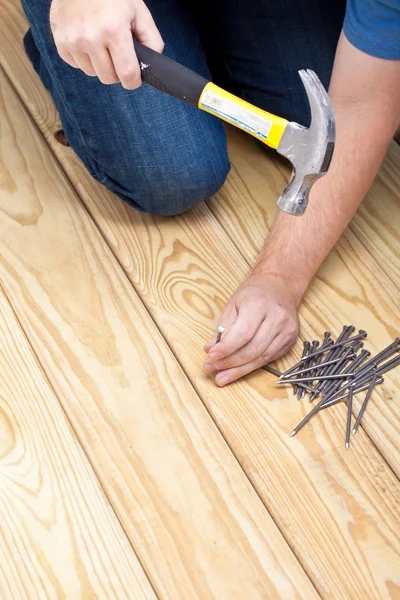
[[[0,276],[156,593],[318,597],[4,77],[0,110]]]

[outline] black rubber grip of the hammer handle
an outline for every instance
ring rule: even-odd
[[[209,83],[207,79],[135,39],[133,43],[143,81],[188,104],[198,105],[201,92]]]

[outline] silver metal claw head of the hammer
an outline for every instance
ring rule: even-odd
[[[317,75],[299,71],[311,108],[311,125],[289,123],[277,152],[290,160],[293,174],[278,200],[278,207],[302,215],[313,184],[328,171],[336,139],[335,115],[327,92]]]

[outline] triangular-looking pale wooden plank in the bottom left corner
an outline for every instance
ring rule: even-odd
[[[0,596],[156,600],[0,289]]]

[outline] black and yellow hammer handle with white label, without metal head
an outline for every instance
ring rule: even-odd
[[[286,119],[245,102],[136,40],[133,43],[144,82],[243,129],[271,148],[278,148],[288,125]]]

